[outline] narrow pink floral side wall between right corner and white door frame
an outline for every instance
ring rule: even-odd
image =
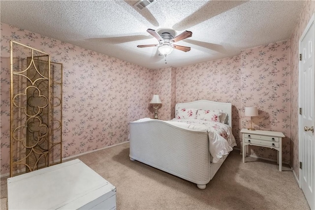
[[[291,54],[290,54],[290,65],[291,65],[291,100],[290,100],[290,154],[291,154],[291,165],[294,173],[299,177],[299,137],[298,137],[298,91],[299,91],[299,39],[302,36],[307,24],[309,23],[312,15],[315,12],[315,1],[306,0],[303,9],[300,13],[300,17],[296,26],[293,30],[291,37]]]

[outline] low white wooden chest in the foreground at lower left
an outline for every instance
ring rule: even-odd
[[[116,187],[75,159],[7,180],[8,209],[116,209]]]

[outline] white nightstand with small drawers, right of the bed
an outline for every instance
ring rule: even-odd
[[[247,145],[273,148],[278,151],[277,162],[279,171],[282,171],[282,138],[285,137],[282,132],[243,128],[241,133],[243,134],[243,163],[245,163]]]

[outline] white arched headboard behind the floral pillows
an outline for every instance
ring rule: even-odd
[[[198,100],[192,101],[188,103],[178,103],[175,107],[175,118],[177,118],[177,110],[179,109],[204,109],[204,110],[222,110],[223,112],[227,113],[227,122],[232,128],[232,104],[231,103],[222,103],[216,101],[208,101],[208,100]]]

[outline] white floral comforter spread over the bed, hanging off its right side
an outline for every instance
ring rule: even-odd
[[[136,120],[136,122],[153,120],[144,118]],[[191,129],[207,131],[209,136],[209,151],[212,155],[212,162],[219,162],[224,155],[232,151],[232,147],[236,146],[235,138],[232,134],[231,128],[227,124],[206,120],[181,120],[173,119],[164,121],[169,124]]]

